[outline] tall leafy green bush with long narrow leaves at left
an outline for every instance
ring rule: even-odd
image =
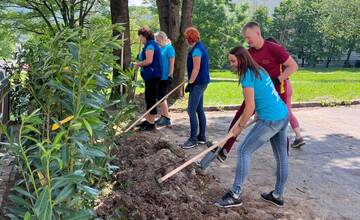
[[[9,197],[12,219],[94,215],[94,198],[116,168],[110,155],[115,128],[134,111],[123,100],[116,115],[106,111],[114,104],[110,89],[127,80],[111,79],[117,68],[112,50],[119,47],[111,26],[65,29],[25,45],[22,61],[29,70],[14,76],[22,77],[21,88],[30,94],[28,109],[18,130],[1,126],[22,176]]]

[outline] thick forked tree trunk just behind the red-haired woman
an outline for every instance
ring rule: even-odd
[[[156,5],[159,13],[160,29],[169,36],[176,52],[175,83],[171,86],[174,88],[184,80],[187,45],[183,33],[187,27],[191,26],[193,0],[156,0]],[[183,96],[183,88],[173,95],[174,98]]]

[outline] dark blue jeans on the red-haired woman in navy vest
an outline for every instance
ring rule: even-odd
[[[190,118],[190,140],[193,142],[198,140],[198,127],[199,138],[205,140],[206,116],[204,112],[204,92],[206,87],[207,84],[194,85],[189,94],[187,112]]]

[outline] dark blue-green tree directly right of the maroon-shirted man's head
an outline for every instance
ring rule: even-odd
[[[318,8],[310,0],[285,0],[274,10],[271,34],[292,54],[315,65],[324,50],[324,39],[315,27]]]

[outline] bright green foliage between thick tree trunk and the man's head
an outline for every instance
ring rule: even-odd
[[[227,66],[229,50],[241,44],[241,28],[247,18],[247,6],[230,1],[195,1],[192,23],[201,34],[211,68]]]

